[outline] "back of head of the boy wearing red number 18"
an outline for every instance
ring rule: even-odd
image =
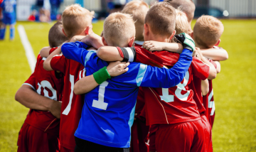
[[[151,32],[159,36],[171,36],[175,29],[176,12],[174,7],[166,2],[159,2],[151,6],[146,13],[145,23]]]

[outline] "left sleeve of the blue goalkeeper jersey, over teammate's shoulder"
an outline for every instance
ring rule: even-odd
[[[84,65],[85,58],[87,53],[90,51],[87,50],[88,45],[82,42],[75,42],[75,43],[65,43],[61,47],[61,51],[65,58],[75,60],[78,63]]]

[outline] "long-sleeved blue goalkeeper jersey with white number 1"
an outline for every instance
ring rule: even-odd
[[[85,43],[76,42],[63,44],[61,50],[65,58],[84,65],[86,75],[108,65],[97,57],[95,51],[86,48]],[[171,69],[130,63],[128,72],[102,82],[85,94],[75,136],[103,146],[129,148],[139,87],[169,88],[178,85],[191,65],[191,55],[190,50],[184,49]]]

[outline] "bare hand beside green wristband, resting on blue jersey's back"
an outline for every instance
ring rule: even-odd
[[[122,75],[124,72],[127,72],[129,70],[129,67],[127,67],[128,65],[129,63],[120,61],[112,62],[107,66],[107,71],[111,77],[116,77],[118,75]]]

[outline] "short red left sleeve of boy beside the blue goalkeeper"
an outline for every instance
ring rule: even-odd
[[[68,65],[67,58],[64,55],[55,55],[52,60],[50,60],[50,67],[55,71],[60,71],[65,73],[66,67]]]

